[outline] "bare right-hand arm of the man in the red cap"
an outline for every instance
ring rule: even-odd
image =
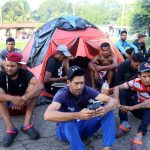
[[[28,85],[28,88],[25,94],[22,96],[24,100],[30,100],[40,95],[41,91],[44,89],[42,83],[36,78],[33,77]]]

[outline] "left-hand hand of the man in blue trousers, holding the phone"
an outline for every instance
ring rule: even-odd
[[[95,112],[96,112],[95,110],[84,108],[78,113],[78,118],[81,120],[88,120],[94,117]]]

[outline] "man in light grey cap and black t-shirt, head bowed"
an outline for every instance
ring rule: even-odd
[[[67,81],[64,73],[67,72],[69,63],[67,63],[67,57],[70,57],[66,45],[59,45],[57,47],[57,52],[48,59],[46,64],[46,72],[44,77],[45,89],[48,93],[54,95],[58,89],[57,83],[65,83]],[[56,86],[54,86],[54,84]]]

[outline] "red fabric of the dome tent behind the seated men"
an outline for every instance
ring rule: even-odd
[[[62,19],[62,18],[61,18]],[[80,18],[81,19],[81,18]],[[55,20],[56,21],[56,20]],[[39,31],[42,31],[42,28]],[[33,55],[33,46],[38,43],[36,40],[36,34],[31,38],[31,40],[28,42],[24,49],[24,60],[29,61],[31,58],[31,55]],[[40,36],[38,37],[40,39]],[[43,38],[43,37],[42,37]],[[36,43],[37,42],[37,43]],[[32,66],[32,63],[30,63],[29,70],[31,70],[38,78],[43,81],[46,62],[48,58],[55,53],[56,47],[60,44],[65,44],[69,48],[70,53],[74,56],[82,56],[82,57],[88,57],[89,59],[92,59],[95,55],[97,55],[100,51],[100,44],[102,42],[109,42],[111,44],[111,48],[113,53],[117,56],[118,61],[121,63],[123,62],[123,57],[120,54],[120,52],[114,47],[114,45],[111,43],[109,39],[106,38],[106,35],[98,28],[96,27],[86,27],[85,29],[76,29],[76,30],[64,30],[60,28],[56,28],[51,36],[51,39],[46,43],[47,47],[44,48],[44,56],[39,63],[37,57],[35,57],[36,62],[38,62],[38,65]],[[43,46],[42,46],[43,47]],[[35,48],[36,50],[36,48]],[[38,57],[43,55],[42,51],[37,52]],[[35,55],[36,56],[36,55]],[[34,61],[35,62],[35,61]]]

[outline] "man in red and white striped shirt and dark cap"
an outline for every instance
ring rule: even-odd
[[[150,124],[150,64],[142,63],[139,68],[139,78],[116,86],[114,88],[114,97],[118,100],[118,106],[121,110],[120,121],[118,129],[118,137],[130,131],[128,123],[127,112],[131,111],[133,115],[140,118],[141,125],[138,128],[138,133],[133,139],[133,150],[142,150],[142,137],[147,132],[147,127]],[[129,96],[123,99],[119,98],[120,89],[131,89],[137,92],[137,101],[133,101]]]

